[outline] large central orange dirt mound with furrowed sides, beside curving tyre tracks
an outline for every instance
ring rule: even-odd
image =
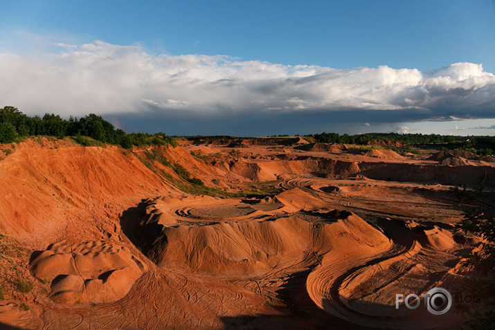
[[[143,208],[145,214],[139,218],[145,221],[141,221],[132,232],[137,236],[148,235],[142,241],[154,241],[152,247],[143,249],[143,252],[160,267],[229,277],[262,275],[279,265],[291,267],[302,262],[310,251],[318,254],[330,250],[352,253],[354,248],[362,251],[380,242],[388,244],[381,232],[352,212],[316,212],[315,217],[321,219],[318,225],[301,219],[297,214],[273,216],[324,205],[299,189],[279,194],[274,200],[289,208],[267,213],[272,214],[268,218],[257,213],[255,217],[251,215],[239,221],[219,219],[201,226],[183,221],[174,226],[164,226],[159,224],[157,217],[146,213],[150,208]],[[168,212],[167,208],[170,205],[158,212]],[[217,210],[219,212],[222,210]],[[154,237],[151,237],[153,230]],[[139,243],[137,245],[140,247]]]

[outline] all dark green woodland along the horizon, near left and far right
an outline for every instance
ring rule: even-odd
[[[0,109],[0,143],[11,143],[17,138],[27,136],[69,136],[81,145],[93,145],[94,141],[111,145],[120,145],[126,149],[133,145],[177,145],[171,136],[163,133],[130,133],[116,129],[110,122],[91,113],[80,119],[63,119],[58,115],[46,113],[43,117],[27,116],[15,107]],[[367,144],[379,141],[400,142],[406,145],[458,145],[463,149],[473,149],[478,154],[492,154],[495,149],[495,136],[445,136],[440,134],[309,134],[318,143]],[[199,137],[199,136],[198,136]],[[192,138],[192,137],[189,137]],[[210,137],[213,138],[213,137]],[[235,138],[222,136],[222,138]],[[485,149],[483,149],[485,148]]]

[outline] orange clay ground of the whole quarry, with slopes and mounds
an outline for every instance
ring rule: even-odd
[[[454,232],[448,188],[491,189],[493,164],[307,142],[1,146],[0,328],[462,324],[395,309],[395,294],[469,275],[480,239]]]

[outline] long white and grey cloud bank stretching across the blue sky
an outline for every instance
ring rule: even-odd
[[[60,51],[33,57],[0,53],[0,107],[62,116],[413,111],[415,120],[495,117],[495,76],[481,64],[456,63],[422,73],[388,66],[334,69],[222,55],[151,55],[141,46],[99,41],[55,46]],[[390,122],[400,120],[390,116]]]

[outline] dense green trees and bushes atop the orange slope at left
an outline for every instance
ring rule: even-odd
[[[27,116],[15,107],[0,109],[0,143],[11,143],[19,137],[55,136],[65,138],[70,136],[82,145],[89,145],[91,140],[110,145],[120,145],[130,149],[133,145],[177,145],[174,138],[163,133],[130,133],[116,129],[107,120],[94,113],[80,119],[71,116],[69,120],[53,113],[43,117]]]

